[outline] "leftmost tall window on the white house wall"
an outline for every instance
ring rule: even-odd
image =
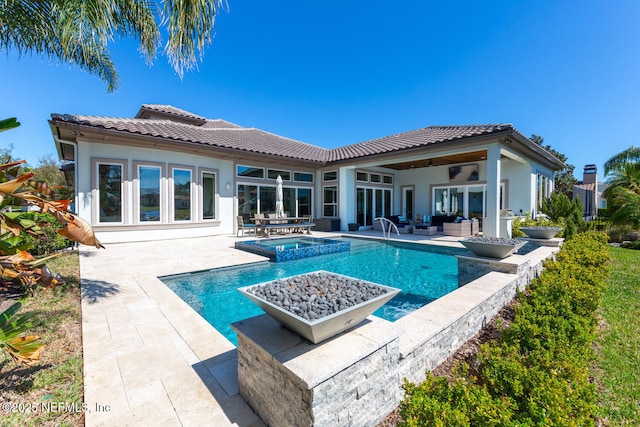
[[[121,164],[98,164],[98,221],[122,222]]]

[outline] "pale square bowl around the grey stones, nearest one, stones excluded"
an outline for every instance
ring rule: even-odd
[[[254,294],[255,289],[258,286],[271,286],[274,282],[266,282],[253,286],[245,286],[238,288],[245,297],[249,298],[253,303],[263,309],[268,315],[280,322],[287,329],[301,335],[314,344],[327,340],[340,332],[350,329],[359,323],[361,323],[367,316],[376,311],[382,305],[384,305],[391,298],[396,296],[400,289],[392,288],[390,286],[379,285],[377,283],[366,282],[364,280],[355,279],[341,274],[329,273],[326,271],[316,271],[313,273],[301,274],[299,276],[290,277],[288,279],[279,279],[282,281],[291,281],[297,279],[304,279],[306,277],[318,277],[317,275],[323,275],[325,278],[330,278],[334,282],[356,281],[360,283],[360,286],[366,284],[370,287],[378,288],[384,293],[375,296],[371,299],[363,301],[359,304],[352,305],[351,307],[343,310],[338,310],[332,314],[320,317],[315,320],[307,320],[301,316],[294,314],[293,312],[286,310],[285,308],[276,305],[275,303],[268,301],[266,298],[257,296]],[[331,299],[331,295],[327,295],[328,299]]]

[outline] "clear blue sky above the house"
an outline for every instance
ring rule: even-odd
[[[116,93],[47,58],[0,57],[0,134],[35,166],[51,113],[133,117],[143,103],[331,148],[430,125],[512,123],[581,178],[635,145],[640,2],[228,0],[198,70],[181,80],[133,40],[111,52]]]

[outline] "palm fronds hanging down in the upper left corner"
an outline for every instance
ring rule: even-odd
[[[133,37],[149,63],[161,43],[180,77],[196,65],[211,42],[222,0],[0,0],[0,49],[35,53],[99,76],[107,91],[118,73],[107,49],[116,37]]]

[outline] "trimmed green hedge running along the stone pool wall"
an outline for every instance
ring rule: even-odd
[[[400,425],[594,425],[588,366],[609,273],[606,243],[593,233],[565,242],[519,296],[509,328],[481,347],[473,373],[461,364],[451,382],[430,373],[418,385],[405,380]]]

